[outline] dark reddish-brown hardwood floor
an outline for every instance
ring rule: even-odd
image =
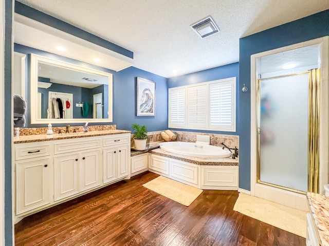
[[[305,245],[233,211],[236,191],[205,190],[189,207],[142,184],[146,172],[24,218],[15,245]]]

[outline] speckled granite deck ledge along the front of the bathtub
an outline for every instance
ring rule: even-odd
[[[143,150],[143,151],[132,150],[131,156],[141,155],[144,153],[151,153],[151,154],[165,156],[177,160],[187,161],[200,166],[239,166],[238,159],[198,158],[198,157],[191,157],[186,155],[179,155],[159,149],[159,144],[161,144],[161,142],[151,142],[147,150]]]

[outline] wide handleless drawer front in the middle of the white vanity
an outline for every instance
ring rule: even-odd
[[[69,153],[74,151],[87,151],[94,148],[101,147],[100,138],[86,138],[86,140],[79,139],[79,141],[61,141],[54,144],[55,154]]]

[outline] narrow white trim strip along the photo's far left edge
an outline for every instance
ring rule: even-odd
[[[0,0],[0,111],[5,111],[5,1]],[[5,119],[0,117],[0,244],[5,245]]]

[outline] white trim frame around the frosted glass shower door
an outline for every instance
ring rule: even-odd
[[[329,159],[329,129],[327,128],[327,122],[329,119],[329,110],[328,110],[328,71],[329,71],[329,62],[328,62],[328,47],[329,47],[329,38],[328,36],[316,38],[306,42],[302,42],[295,45],[290,45],[275,50],[269,50],[261,52],[258,54],[253,54],[250,57],[250,106],[251,106],[251,115],[250,115],[250,194],[255,195],[255,185],[257,185],[257,100],[256,100],[256,79],[257,79],[257,58],[272,54],[277,54],[289,50],[294,50],[298,48],[303,48],[311,45],[321,45],[321,64],[320,64],[320,194],[323,194],[323,185],[328,183],[328,164]]]

